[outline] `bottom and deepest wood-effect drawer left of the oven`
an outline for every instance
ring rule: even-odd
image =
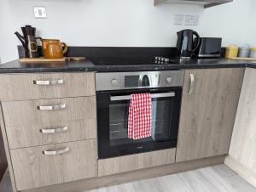
[[[18,190],[96,177],[95,139],[10,150],[10,154]]]

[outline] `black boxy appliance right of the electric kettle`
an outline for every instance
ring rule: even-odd
[[[196,50],[197,58],[220,58],[222,38],[201,37],[200,46]]]

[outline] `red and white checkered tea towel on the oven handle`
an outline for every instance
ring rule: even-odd
[[[140,139],[151,136],[150,93],[131,94],[128,119],[128,138]]]

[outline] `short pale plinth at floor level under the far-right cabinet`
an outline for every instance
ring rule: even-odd
[[[236,161],[236,159],[231,155],[226,156],[224,164],[230,167],[230,169],[240,175],[241,178],[244,178],[249,184],[252,184],[253,187],[256,188],[256,172],[248,169],[242,165],[241,162]]]

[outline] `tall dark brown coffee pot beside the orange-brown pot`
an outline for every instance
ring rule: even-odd
[[[19,32],[15,32],[15,35],[20,39],[22,46],[25,49],[26,58],[37,58],[38,57],[38,43],[37,39],[41,37],[36,37],[36,28],[32,25],[25,25],[21,27],[23,36]]]

